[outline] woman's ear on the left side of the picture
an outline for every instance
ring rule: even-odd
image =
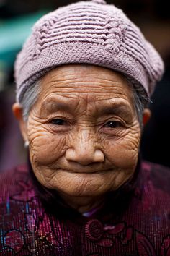
[[[28,137],[27,137],[27,123],[23,119],[22,106],[20,106],[19,103],[14,103],[13,106],[12,106],[12,111],[13,111],[13,114],[16,117],[16,119],[19,121],[19,127],[20,127],[20,130],[21,130],[21,133],[22,133],[22,137],[24,139],[24,142],[26,142],[28,140]]]

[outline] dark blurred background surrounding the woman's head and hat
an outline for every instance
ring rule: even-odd
[[[31,27],[43,14],[75,1],[0,0],[0,171],[26,161],[24,143],[12,115],[14,59]],[[166,72],[158,82],[150,104],[151,120],[143,131],[141,152],[147,161],[170,166],[170,12],[166,0],[107,0],[120,7],[165,62]]]

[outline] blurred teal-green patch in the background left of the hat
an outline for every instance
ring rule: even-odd
[[[16,55],[30,35],[32,26],[47,12],[49,10],[41,10],[8,20],[0,19],[0,91],[4,89],[7,74],[13,68]]]

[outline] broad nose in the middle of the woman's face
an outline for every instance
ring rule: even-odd
[[[67,161],[84,166],[104,162],[104,153],[97,147],[97,139],[90,131],[81,131],[72,140],[71,147],[66,150]]]

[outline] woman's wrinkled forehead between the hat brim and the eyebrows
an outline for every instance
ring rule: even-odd
[[[53,69],[40,82],[39,102],[50,98],[63,101],[109,101],[121,99],[133,104],[132,90],[122,74],[104,67],[70,64]]]

